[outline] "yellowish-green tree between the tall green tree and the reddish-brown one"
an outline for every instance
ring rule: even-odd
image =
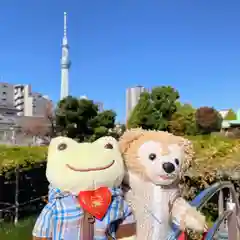
[[[196,109],[190,104],[178,104],[177,111],[172,115],[169,131],[175,135],[196,135]]]

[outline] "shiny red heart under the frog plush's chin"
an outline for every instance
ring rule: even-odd
[[[101,220],[107,213],[112,195],[108,188],[100,187],[93,191],[80,192],[78,201],[85,211]]]

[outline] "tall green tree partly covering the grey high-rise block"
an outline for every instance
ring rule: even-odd
[[[178,91],[170,86],[155,87],[151,93],[142,93],[128,119],[127,127],[167,130],[169,120],[177,110],[178,98]]]

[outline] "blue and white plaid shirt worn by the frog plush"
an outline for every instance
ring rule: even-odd
[[[95,219],[94,240],[107,240],[107,228],[115,236],[114,223],[128,219],[134,222],[133,214],[123,198],[121,189],[110,189],[112,203],[102,220]],[[33,236],[51,238],[52,240],[79,240],[81,239],[81,223],[84,212],[78,203],[77,197],[61,192],[59,189],[49,189],[49,202],[43,208],[33,229]]]

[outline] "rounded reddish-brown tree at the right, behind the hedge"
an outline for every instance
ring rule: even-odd
[[[197,128],[202,134],[218,132],[222,126],[222,117],[211,107],[201,107],[196,111]]]

